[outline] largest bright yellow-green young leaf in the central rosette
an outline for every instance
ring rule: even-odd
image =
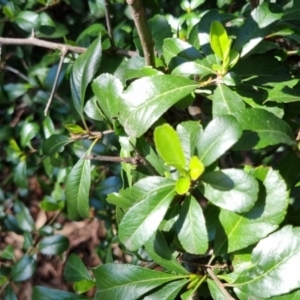
[[[164,124],[154,130],[154,143],[157,152],[166,165],[173,166],[180,172],[185,170],[185,157],[179,137],[172,126]]]

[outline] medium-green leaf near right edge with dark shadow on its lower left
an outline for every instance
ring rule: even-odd
[[[244,133],[235,149],[261,149],[276,144],[295,146],[290,126],[264,109],[245,109],[237,119]]]

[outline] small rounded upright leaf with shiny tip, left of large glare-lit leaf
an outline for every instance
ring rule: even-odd
[[[123,92],[121,81],[113,75],[101,74],[94,80],[92,89],[101,111],[113,123],[118,116],[120,95]]]

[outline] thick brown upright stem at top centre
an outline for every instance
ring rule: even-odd
[[[149,31],[145,12],[141,0],[127,0],[127,4],[131,8],[134,24],[141,40],[145,63],[147,66],[155,67],[154,43]]]

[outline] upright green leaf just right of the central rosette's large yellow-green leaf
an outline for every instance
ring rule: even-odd
[[[197,148],[198,139],[202,132],[202,126],[197,121],[186,121],[180,123],[176,127],[176,132],[184,152],[186,160],[185,167],[188,168],[189,161]]]

